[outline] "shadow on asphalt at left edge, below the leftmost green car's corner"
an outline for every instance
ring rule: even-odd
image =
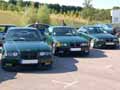
[[[8,81],[8,80],[12,80],[12,79],[16,79],[17,72],[6,72],[1,68],[1,64],[0,64],[0,84],[2,82]]]

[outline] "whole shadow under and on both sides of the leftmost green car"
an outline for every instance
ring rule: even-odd
[[[54,64],[50,70],[37,70],[36,68],[25,68],[19,72],[6,72],[0,68],[0,83],[3,81],[15,79],[17,73],[35,73],[35,74],[53,74],[53,73],[67,73],[77,71],[78,68],[75,65],[78,63],[76,59],[73,58],[59,58],[55,57]]]

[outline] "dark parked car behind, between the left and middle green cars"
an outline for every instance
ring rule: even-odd
[[[49,28],[48,24],[42,24],[42,23],[35,23],[35,24],[30,24],[27,27],[33,27],[36,28],[40,31],[40,33],[44,36],[44,32],[46,29]]]

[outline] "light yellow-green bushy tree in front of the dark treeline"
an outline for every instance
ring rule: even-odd
[[[50,23],[49,14],[50,14],[50,10],[46,5],[39,7],[39,10],[37,13],[38,22],[49,24]]]

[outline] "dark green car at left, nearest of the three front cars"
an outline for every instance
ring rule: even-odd
[[[16,70],[20,66],[34,66],[38,69],[51,68],[53,63],[51,47],[43,42],[34,28],[10,28],[2,47],[1,66],[5,70]]]

